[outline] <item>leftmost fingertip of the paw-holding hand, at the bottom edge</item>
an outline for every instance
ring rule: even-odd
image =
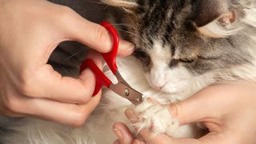
[[[118,142],[121,144],[131,144],[134,142],[134,135],[125,124],[116,122],[113,126],[113,130],[114,134],[118,137]]]

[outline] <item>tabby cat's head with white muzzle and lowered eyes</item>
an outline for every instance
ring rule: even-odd
[[[249,62],[240,4],[232,0],[102,0],[124,11],[126,38],[155,89],[175,93],[193,78]],[[239,33],[239,34],[238,34]]]

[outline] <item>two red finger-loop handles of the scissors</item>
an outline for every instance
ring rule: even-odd
[[[113,46],[112,50],[109,53],[102,54],[102,57],[106,61],[107,65],[110,67],[110,70],[113,72],[113,74],[116,73],[118,70],[118,66],[116,64],[116,56],[118,53],[118,45],[119,45],[119,37],[117,30],[114,29],[114,26],[112,26],[109,22],[101,22],[101,25],[106,28],[112,35],[113,39]],[[101,90],[102,86],[110,87],[110,84],[112,83],[109,78],[106,77],[105,74],[102,73],[102,70],[98,69],[98,66],[94,64],[94,62],[90,59],[86,59],[82,65],[80,66],[80,73],[82,73],[83,70],[86,69],[86,67],[89,67],[90,70],[94,72],[95,78],[96,78],[96,86],[94,90],[93,96],[98,94],[98,91]]]

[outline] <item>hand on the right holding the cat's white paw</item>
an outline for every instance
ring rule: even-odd
[[[185,101],[172,104],[170,114],[178,118],[180,125],[202,122],[209,134],[202,138],[170,138],[166,134],[154,136],[149,129],[139,132],[141,140],[130,133],[127,126],[118,122],[114,132],[118,136],[115,144],[253,144],[256,142],[256,84],[254,82],[230,82],[210,86]],[[126,116],[137,118],[132,109]]]

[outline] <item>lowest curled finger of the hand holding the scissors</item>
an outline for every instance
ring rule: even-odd
[[[43,98],[17,97],[11,110],[34,118],[60,122],[70,126],[82,126],[89,114],[98,105],[101,92],[84,105],[51,101]]]

